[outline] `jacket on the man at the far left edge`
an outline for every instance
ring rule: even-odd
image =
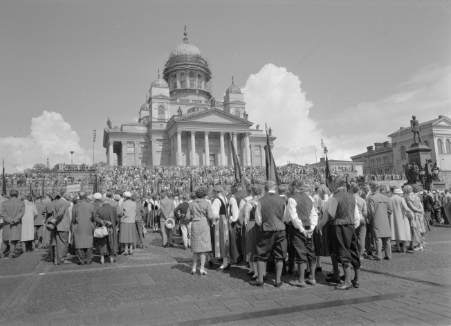
[[[20,241],[22,232],[22,217],[25,213],[25,203],[15,197],[3,201],[0,216],[3,218],[3,241]],[[15,224],[10,224],[15,221]]]

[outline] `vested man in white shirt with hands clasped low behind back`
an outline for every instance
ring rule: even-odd
[[[290,226],[291,259],[297,263],[299,277],[290,281],[290,285],[305,287],[306,284],[315,285],[315,273],[309,273],[309,279],[304,280],[306,264],[310,271],[314,271],[316,256],[313,248],[313,230],[318,221],[318,215],[313,207],[313,201],[302,193],[300,181],[293,181],[293,194],[288,199],[285,211],[285,220]]]

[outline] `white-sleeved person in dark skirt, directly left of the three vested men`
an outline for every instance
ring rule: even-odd
[[[255,222],[255,210],[257,209],[257,202],[261,197],[261,187],[259,185],[251,185],[250,191],[252,199],[246,202],[244,208],[244,225],[246,226],[245,243],[243,246],[243,259],[250,264],[250,273],[252,273],[252,280],[257,280],[258,269],[257,262],[254,260],[257,252],[257,244],[259,242],[259,225]]]

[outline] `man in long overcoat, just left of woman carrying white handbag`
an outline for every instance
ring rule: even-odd
[[[86,195],[81,191],[80,203],[72,208],[72,229],[79,265],[91,264],[93,255],[95,207],[86,201]]]

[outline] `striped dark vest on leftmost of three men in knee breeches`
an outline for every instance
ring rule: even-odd
[[[285,230],[285,201],[278,194],[270,193],[261,197],[261,219],[264,231]]]

